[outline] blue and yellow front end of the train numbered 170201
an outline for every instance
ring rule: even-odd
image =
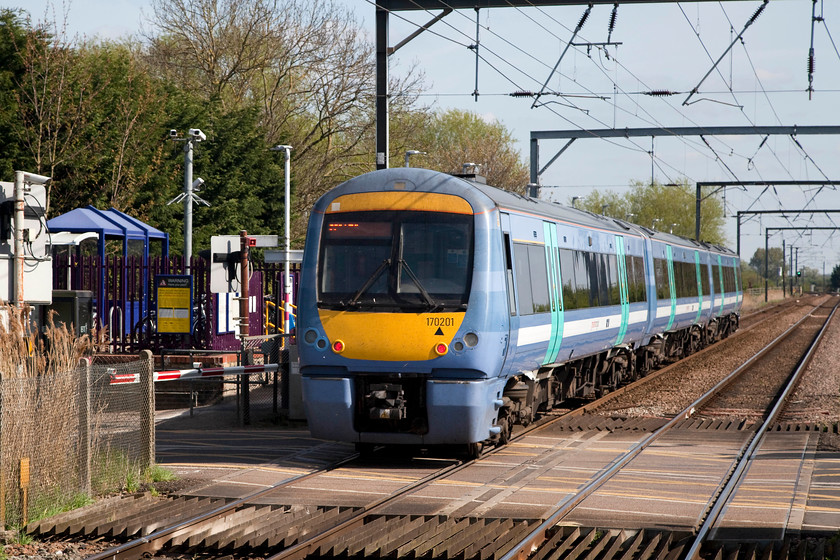
[[[405,168],[317,203],[301,285],[318,289],[301,290],[298,326],[314,437],[437,445],[498,433],[508,335],[498,220],[462,180]]]

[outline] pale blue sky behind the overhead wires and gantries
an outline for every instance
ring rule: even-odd
[[[366,0],[340,0],[352,7],[373,37],[374,8]],[[41,20],[55,5],[56,17],[68,14],[71,34],[107,38],[136,33],[150,15],[147,0],[75,0],[61,4],[50,0],[0,0],[3,7],[25,7]],[[568,8],[482,10],[478,102],[470,95],[475,88],[475,54],[467,48],[475,42],[475,12],[465,10],[447,16],[401,49],[392,59],[392,72],[416,64],[426,75],[428,89],[422,98],[435,107],[457,107],[498,119],[510,128],[518,148],[527,158],[532,130],[594,129],[649,126],[750,126],[840,124],[840,2],[820,0],[817,15],[824,18],[815,29],[815,93],[808,99],[807,56],[811,41],[810,0],[773,0],[724,58],[720,72],[713,72],[700,86],[690,105],[687,92],[740,33],[758,9],[758,0],[682,2],[676,4],[622,5],[611,40],[620,46],[602,50],[572,48],[559,66],[559,75],[549,89],[575,97],[548,97],[551,103],[531,109],[529,99],[510,97],[516,90],[537,91],[548,79],[584,6]],[[611,6],[596,6],[575,42],[603,42]],[[426,23],[433,14],[403,12],[391,18],[392,45]],[[405,20],[403,19],[405,18]],[[406,21],[407,20],[407,21]],[[681,92],[669,97],[644,95],[651,90]],[[762,138],[661,137],[579,140],[543,176],[544,196],[567,202],[586,196],[593,187],[622,189],[629,180],[668,183],[687,177],[691,181],[840,180],[840,137],[798,136]],[[541,144],[543,164],[563,145]],[[801,146],[801,147],[800,147]],[[653,169],[651,169],[653,151]],[[398,165],[399,162],[392,162]],[[418,164],[422,164],[420,160]],[[760,196],[759,196],[760,195]],[[840,192],[823,189],[819,194],[799,187],[727,191],[727,211],[775,210],[779,208],[840,209]],[[830,222],[814,218],[810,225],[840,224],[840,215]],[[728,220],[730,245],[735,245],[734,218]],[[781,218],[765,218],[764,226],[788,226]],[[802,217],[796,225],[804,225]],[[800,259],[808,266],[830,269],[838,260],[840,233],[798,238],[786,234],[788,244],[802,246]],[[781,244],[781,235],[772,238]],[[742,230],[742,254],[749,258],[764,246],[764,231],[758,220]],[[808,248],[805,248],[808,246]]]

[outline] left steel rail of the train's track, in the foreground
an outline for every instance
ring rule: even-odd
[[[138,539],[131,540],[127,543],[123,543],[121,545],[103,550],[102,552],[89,556],[87,560],[106,560],[109,558],[119,558],[121,560],[134,560],[137,558],[142,558],[146,554],[154,554],[155,552],[163,548],[163,546],[166,544],[166,541],[173,537],[179,536],[184,532],[189,531],[196,525],[199,525],[216,517],[221,517],[225,513],[232,511],[237,507],[246,504],[251,500],[254,500],[255,498],[259,498],[260,496],[269,494],[277,490],[278,488],[282,488],[290,484],[295,484],[302,480],[306,480],[314,476],[323,474],[325,472],[335,470],[339,467],[346,465],[347,463],[358,459],[358,457],[358,453],[353,453],[345,457],[344,459],[331,463],[325,467],[321,467],[317,470],[314,470],[301,476],[296,476],[293,478],[282,480],[276,484],[269,486],[268,488],[263,488],[258,492],[254,492],[253,494],[249,494],[248,496],[245,496],[243,498],[238,498],[230,503],[227,503],[223,506],[219,506],[218,508],[208,511],[204,514],[197,515],[195,517],[186,519],[180,523],[176,523],[174,525],[164,527],[163,529],[159,529],[153,533],[146,535],[145,537],[140,537]]]

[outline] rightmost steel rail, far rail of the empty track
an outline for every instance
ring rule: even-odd
[[[802,357],[802,359],[799,362],[799,365],[796,367],[796,370],[794,370],[794,372],[788,379],[785,389],[776,398],[776,402],[774,403],[770,413],[767,415],[767,418],[764,420],[764,422],[761,424],[761,426],[758,428],[755,434],[753,434],[753,436],[750,438],[749,445],[747,446],[747,448],[743,450],[743,452],[736,458],[735,468],[730,474],[726,485],[723,487],[723,489],[721,489],[721,492],[714,499],[714,504],[709,510],[709,513],[706,515],[706,518],[703,524],[701,525],[700,529],[697,531],[694,543],[691,545],[691,548],[688,550],[688,553],[686,553],[686,560],[699,560],[700,547],[706,541],[706,537],[709,534],[709,531],[711,531],[715,523],[717,523],[718,517],[720,517],[723,508],[726,507],[732,496],[735,494],[735,490],[738,488],[738,486],[740,486],[744,475],[747,473],[747,469],[755,459],[755,455],[758,451],[759,446],[764,442],[764,439],[767,435],[767,432],[769,431],[770,426],[775,424],[778,420],[779,415],[782,413],[784,405],[787,404],[788,397],[793,392],[793,389],[794,387],[796,387],[796,384],[799,382],[799,378],[802,376],[802,373],[808,368],[808,365],[811,363],[811,359],[814,357],[814,352],[816,352],[817,347],[822,341],[823,335],[825,335],[826,331],[828,330],[828,325],[831,323],[831,319],[834,317],[834,313],[837,311],[837,307],[839,305],[840,303],[834,305],[834,308],[828,315],[828,318],[826,319],[825,323],[820,329],[820,332],[817,333],[816,337],[814,337],[814,340],[811,342],[811,346],[808,348],[808,351]]]

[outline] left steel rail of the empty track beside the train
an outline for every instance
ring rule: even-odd
[[[816,306],[814,308],[818,309],[820,306]],[[657,439],[659,439],[663,434],[670,431],[675,425],[681,422],[683,419],[690,418],[694,412],[701,408],[703,405],[708,403],[712,398],[715,397],[719,392],[723,389],[728,387],[735,379],[737,379],[744,371],[749,369],[756,361],[761,359],[764,355],[766,355],[770,350],[775,348],[778,344],[780,344],[785,338],[787,338],[794,330],[796,330],[799,325],[808,319],[814,310],[811,310],[803,316],[799,321],[794,323],[791,327],[789,327],[785,332],[780,334],[778,337],[773,339],[767,346],[761,349],[758,353],[756,353],[752,358],[747,360],[737,369],[729,373],[726,377],[721,379],[714,387],[709,389],[705,394],[701,395],[697,400],[693,403],[688,405],[684,410],[673,416],[668,422],[665,423],[662,427],[657,429],[656,431],[652,432],[649,436],[647,436],[642,441],[636,443],[630,450],[628,450],[623,456],[613,461],[613,463],[603,469],[598,475],[595,476],[592,480],[590,480],[583,488],[581,488],[578,492],[574,495],[568,497],[564,500],[561,504],[558,505],[557,509],[552,513],[545,521],[540,523],[527,537],[525,537],[522,541],[519,542],[515,547],[513,547],[507,554],[502,556],[500,560],[525,560],[530,556],[531,552],[537,550],[540,545],[542,545],[546,540],[548,540],[548,530],[554,527],[557,523],[560,522],[566,515],[568,515],[575,507],[577,507],[583,500],[593,494],[598,488],[604,485],[609,479],[615,476],[623,467],[625,467],[630,461],[632,461],[636,456],[639,455],[644,449],[649,447],[652,443],[654,443]]]

